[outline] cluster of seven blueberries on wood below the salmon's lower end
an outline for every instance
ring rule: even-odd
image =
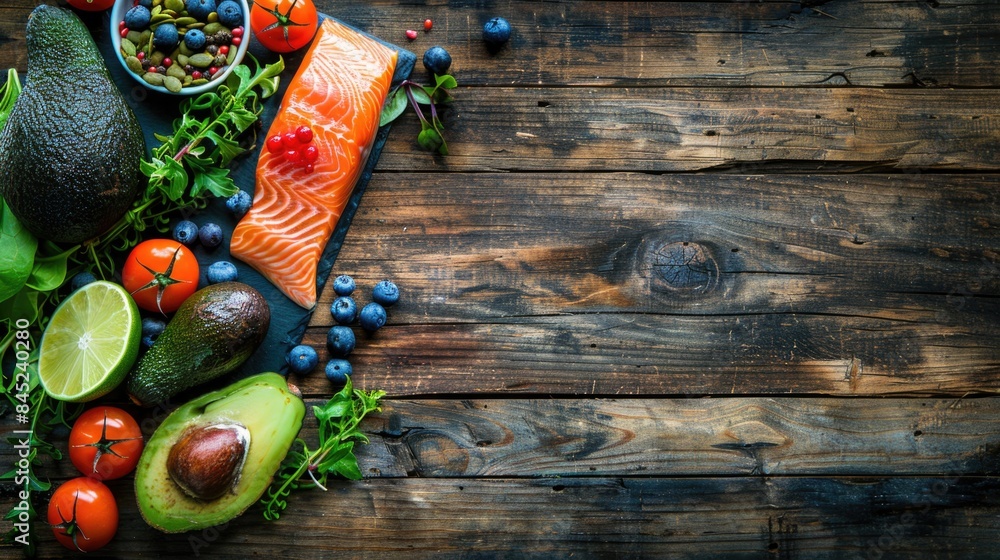
[[[343,385],[353,373],[347,356],[357,342],[350,325],[357,320],[365,332],[371,334],[382,328],[386,320],[386,307],[399,301],[399,288],[391,280],[382,280],[372,288],[372,301],[358,311],[358,304],[352,297],[356,288],[354,279],[346,274],[333,281],[333,292],[337,298],[330,305],[330,314],[337,323],[326,335],[326,348],[330,351],[330,361],[326,364],[326,378],[335,385]],[[300,344],[285,355],[288,370],[296,375],[305,375],[316,368],[319,355],[316,349]]]

